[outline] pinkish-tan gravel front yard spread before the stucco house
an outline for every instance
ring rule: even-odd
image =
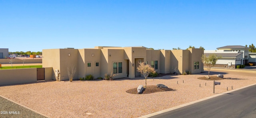
[[[226,92],[227,87],[231,90],[256,83],[255,74],[211,72],[211,76],[217,74],[223,74],[226,79],[218,80],[221,84],[215,86],[215,94]],[[145,85],[143,77],[136,77],[113,81],[42,81],[0,86],[0,95],[51,118],[137,118],[215,95],[213,81],[197,79],[206,75],[207,72],[149,78],[148,86],[164,84],[174,89],[152,94],[126,92]]]

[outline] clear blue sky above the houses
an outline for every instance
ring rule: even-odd
[[[0,0],[0,48],[256,44],[256,0]]]

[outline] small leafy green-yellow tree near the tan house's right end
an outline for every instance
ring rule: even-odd
[[[208,70],[208,78],[210,78],[210,70],[211,68],[216,65],[216,61],[220,59],[221,57],[217,57],[217,54],[210,54],[208,57],[206,57],[204,54],[202,55],[202,62],[206,65],[206,68]]]

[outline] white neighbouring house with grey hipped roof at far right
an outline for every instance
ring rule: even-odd
[[[214,67],[236,68],[237,65],[248,64],[250,60],[255,62],[255,60],[253,60],[253,54],[249,53],[249,49],[250,48],[245,46],[223,46],[217,48],[217,50],[204,50],[204,54],[209,56],[214,53],[222,57],[217,60]]]

